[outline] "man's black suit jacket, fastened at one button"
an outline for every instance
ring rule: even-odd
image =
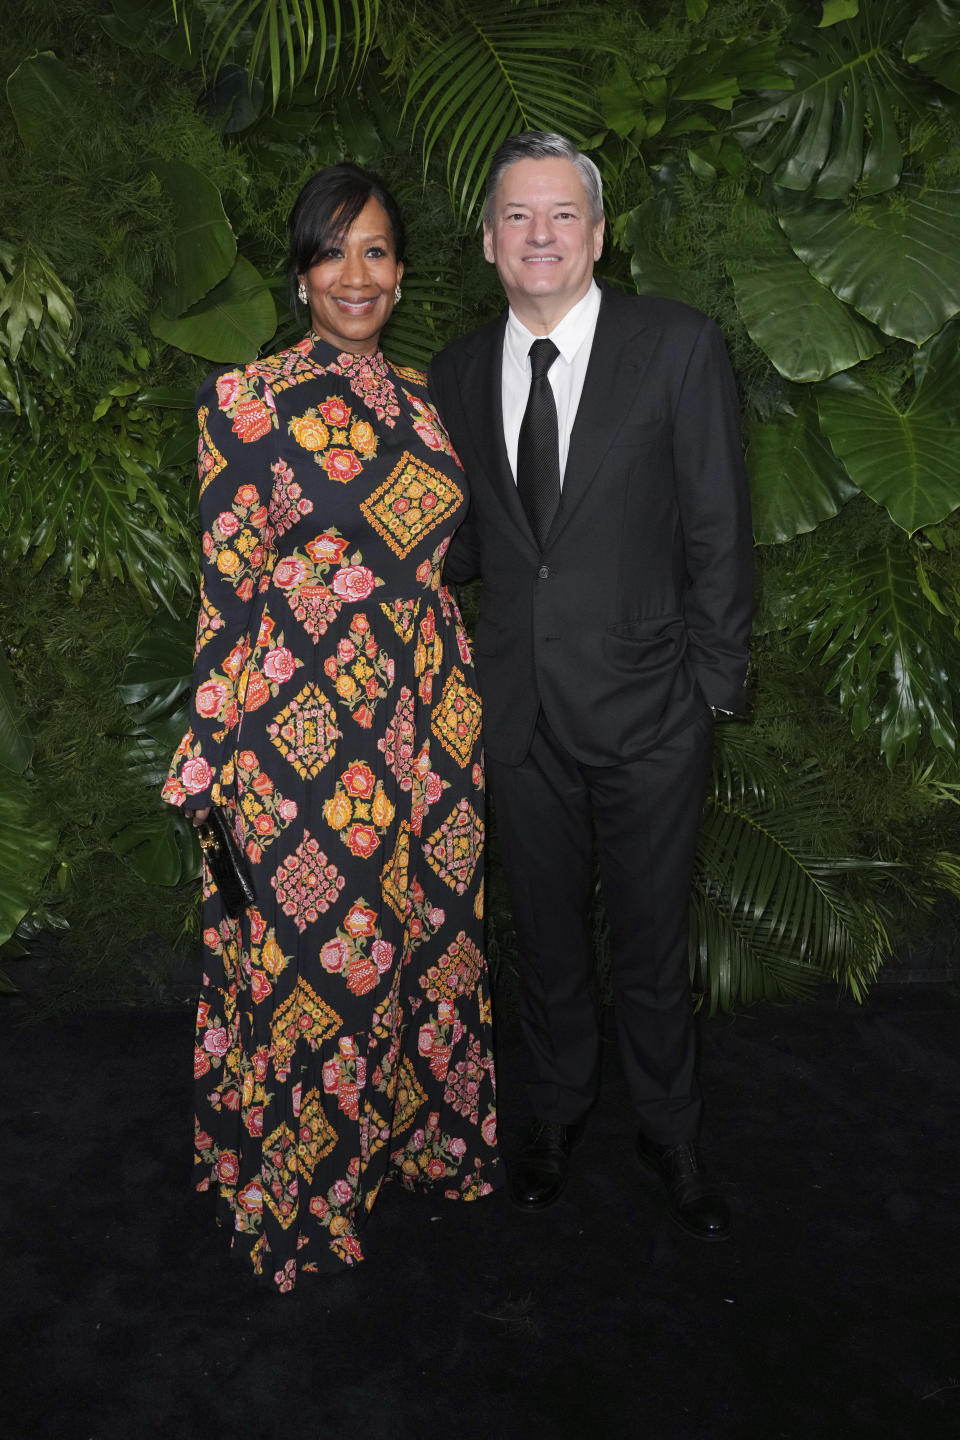
[[[698,311],[603,289],[541,552],[504,442],[505,324],[430,366],[471,487],[445,576],[484,580],[474,648],[485,744],[520,763],[543,706],[579,760],[635,759],[704,706],[744,704],[751,531],[727,351]]]

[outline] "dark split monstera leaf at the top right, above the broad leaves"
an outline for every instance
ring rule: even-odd
[[[793,89],[734,111],[740,144],[760,170],[787,190],[839,199],[892,189],[902,150],[897,112],[915,102],[894,60],[905,27],[902,0],[872,0],[829,29],[806,29],[780,56]]]

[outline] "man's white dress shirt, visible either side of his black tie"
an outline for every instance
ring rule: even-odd
[[[600,287],[590,282],[590,289],[569,310],[548,336],[534,336],[511,310],[504,334],[504,363],[501,367],[501,395],[504,406],[504,439],[510,468],[517,480],[517,445],[520,426],[530,395],[530,347],[534,340],[553,340],[560,354],[547,372],[550,389],[557,406],[557,431],[560,439],[560,484],[567,468],[570,431],[577,418],[577,406],[587,373],[587,361],[593,347],[593,333],[600,312]]]

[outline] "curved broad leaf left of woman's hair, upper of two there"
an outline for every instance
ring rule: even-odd
[[[183,160],[157,160],[153,168],[174,210],[173,279],[160,298],[174,320],[230,274],[236,239],[212,180]]]

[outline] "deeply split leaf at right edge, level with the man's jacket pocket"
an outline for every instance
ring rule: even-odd
[[[918,552],[882,546],[833,575],[812,560],[807,589],[796,599],[800,628],[828,687],[839,691],[853,736],[878,724],[891,769],[901,753],[915,755],[924,734],[938,750],[957,749],[960,645],[928,590]]]

